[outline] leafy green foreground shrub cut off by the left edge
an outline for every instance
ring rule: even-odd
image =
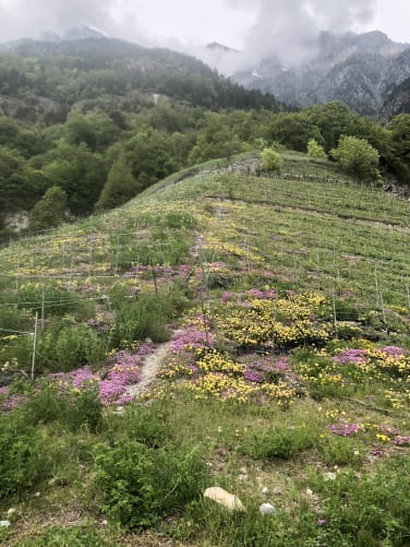
[[[40,477],[40,448],[38,432],[22,412],[0,417],[0,502],[22,495]]]

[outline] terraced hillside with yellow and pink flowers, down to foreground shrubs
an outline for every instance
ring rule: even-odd
[[[407,545],[410,204],[255,162],[1,251],[5,544]]]

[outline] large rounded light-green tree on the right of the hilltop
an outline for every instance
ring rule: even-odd
[[[375,180],[379,175],[379,154],[365,139],[343,135],[337,148],[330,151],[330,155],[352,177]]]

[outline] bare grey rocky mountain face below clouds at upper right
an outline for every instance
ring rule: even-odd
[[[265,59],[233,79],[249,88],[270,92],[290,105],[308,106],[343,100],[362,115],[384,119],[406,111],[410,85],[410,46],[385,34],[322,33],[316,55],[298,68]]]

